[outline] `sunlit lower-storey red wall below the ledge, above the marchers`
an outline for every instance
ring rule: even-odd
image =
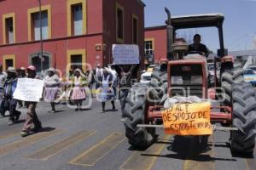
[[[67,50],[85,48],[87,62],[90,63],[90,65],[95,66],[96,55],[102,56],[102,51],[95,50],[95,44],[98,42],[102,42],[102,36],[78,37],[69,40],[49,41],[44,42],[44,51],[52,54],[51,66],[56,66],[56,68],[65,72],[67,66]],[[26,45],[9,46],[0,48],[0,56],[2,58],[5,54],[15,54],[15,67],[26,67],[29,65],[28,56],[38,53],[39,49],[39,42],[28,43]]]

